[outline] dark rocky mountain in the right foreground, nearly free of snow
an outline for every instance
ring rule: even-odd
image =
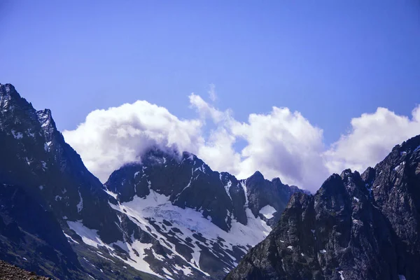
[[[420,136],[363,174],[295,193],[225,279],[420,279]]]

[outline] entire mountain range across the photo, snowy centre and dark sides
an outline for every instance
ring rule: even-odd
[[[420,136],[314,195],[160,146],[103,184],[0,84],[0,155],[0,259],[41,276],[420,279]]]

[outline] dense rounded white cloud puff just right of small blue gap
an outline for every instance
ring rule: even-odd
[[[328,176],[321,157],[323,132],[299,112],[273,107],[266,115],[251,114],[248,123],[233,125],[232,132],[248,143],[241,151],[241,176],[260,170],[267,178],[279,176],[309,189]]]

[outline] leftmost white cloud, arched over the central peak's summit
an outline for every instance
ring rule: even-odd
[[[139,160],[154,145],[197,151],[204,141],[200,120],[179,120],[167,109],[137,101],[107,110],[95,110],[76,130],[64,131],[87,169],[102,182],[115,169]]]

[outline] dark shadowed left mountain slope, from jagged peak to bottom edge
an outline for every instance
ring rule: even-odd
[[[112,244],[132,224],[120,224],[123,215],[109,206],[102,183],[66,144],[50,111],[36,111],[10,84],[0,84],[0,202],[3,260],[59,279],[155,279],[111,256],[102,265],[69,228],[80,223]]]

